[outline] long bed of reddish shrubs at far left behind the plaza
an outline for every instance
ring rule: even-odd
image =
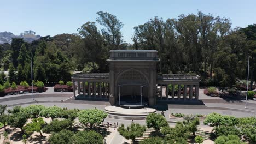
[[[33,87],[34,92],[45,92],[47,90],[46,87],[43,88],[38,88],[38,87]],[[12,89],[11,87],[4,89],[3,92],[0,92],[0,96],[4,95],[13,95],[13,94],[20,94],[20,93],[31,93],[32,92],[32,86],[30,87],[23,87],[23,86],[17,86],[16,89]]]

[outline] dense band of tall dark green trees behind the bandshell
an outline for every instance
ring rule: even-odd
[[[256,79],[255,24],[232,29],[231,20],[201,11],[167,20],[153,17],[134,27],[133,44],[127,44],[124,23],[112,14],[97,14],[95,22],[85,22],[74,34],[1,44],[2,68],[9,69],[9,79],[3,76],[2,81],[31,82],[30,56],[34,80],[44,83],[67,82],[72,71],[108,72],[106,59],[113,49],[156,49],[159,74],[198,74],[201,86],[220,87],[246,79],[249,53],[251,88]]]

